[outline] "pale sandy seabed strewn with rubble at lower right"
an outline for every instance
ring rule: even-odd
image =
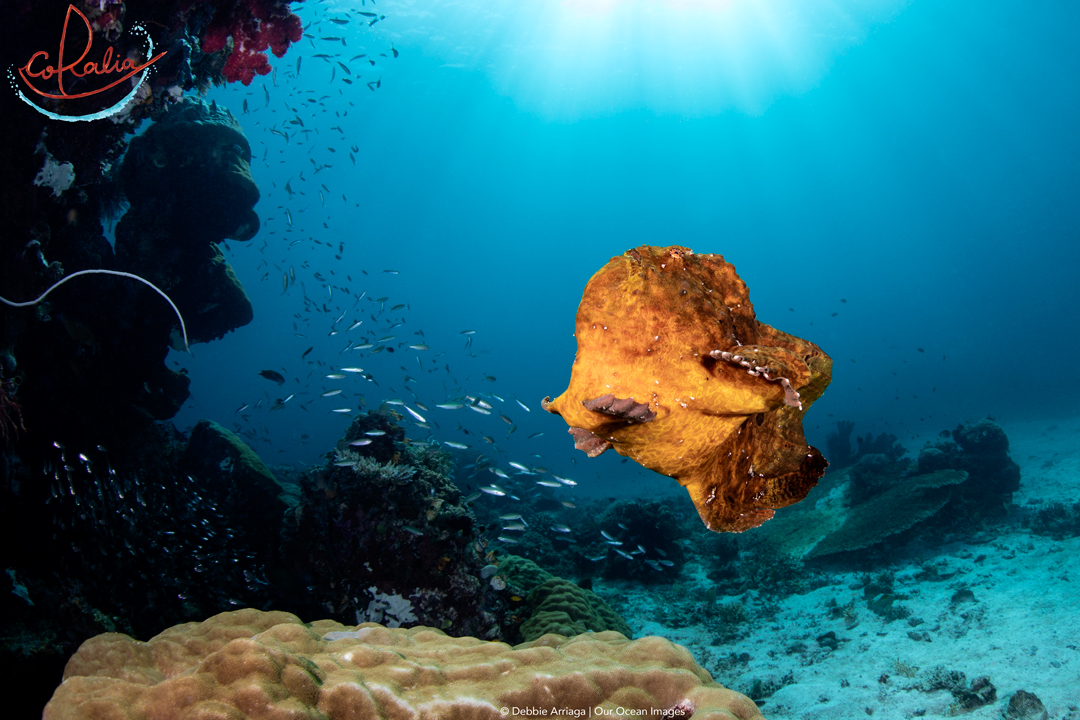
[[[1080,499],[1080,419],[1002,426],[1021,466],[1017,506]],[[827,586],[775,600],[769,620],[752,620],[741,639],[716,644],[704,625],[651,620],[657,598],[648,587],[605,584],[602,593],[622,596],[635,637],[686,646],[721,684],[744,693],[755,681],[782,685],[759,701],[769,720],[1001,718],[1020,690],[1037,695],[1050,719],[1080,720],[1080,538],[1054,540],[1012,522],[966,542],[916,545],[876,569],[893,573],[894,593],[912,613],[892,621],[867,609],[863,571],[831,571]],[[937,579],[917,580],[928,563]],[[711,585],[700,566],[683,573],[702,595]],[[852,601],[853,617],[833,610]],[[828,633],[835,649],[819,642]],[[962,709],[948,690],[931,689],[948,671],[963,673],[969,687],[988,678],[996,699]]]

